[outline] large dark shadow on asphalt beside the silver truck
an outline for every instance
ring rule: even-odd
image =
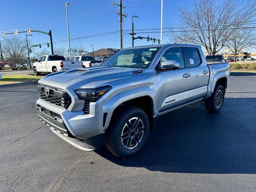
[[[160,116],[144,148],[120,159],[103,147],[95,152],[126,167],[181,173],[256,173],[256,98],[225,98],[222,110],[209,114],[204,104]]]

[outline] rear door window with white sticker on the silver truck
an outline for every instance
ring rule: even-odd
[[[201,58],[198,49],[195,47],[185,47],[188,67],[198,66],[201,63]]]

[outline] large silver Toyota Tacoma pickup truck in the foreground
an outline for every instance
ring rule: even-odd
[[[125,158],[142,148],[157,116],[196,102],[218,112],[229,77],[229,63],[207,65],[200,46],[124,48],[100,67],[45,76],[36,106],[40,120],[73,146],[105,143]]]

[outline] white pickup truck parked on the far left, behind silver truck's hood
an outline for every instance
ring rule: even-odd
[[[44,55],[33,63],[34,75],[44,73],[54,73],[67,69],[77,69],[82,67],[80,61],[66,61],[64,56]]]

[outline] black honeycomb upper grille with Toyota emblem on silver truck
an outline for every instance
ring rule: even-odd
[[[44,92],[44,89],[47,86],[38,85],[39,90],[39,98],[45,100],[49,103],[52,103],[56,106],[60,106],[62,108],[68,108],[71,104],[71,97],[67,94],[67,92],[63,90],[59,90],[57,88],[48,87],[49,95],[47,96]]]

